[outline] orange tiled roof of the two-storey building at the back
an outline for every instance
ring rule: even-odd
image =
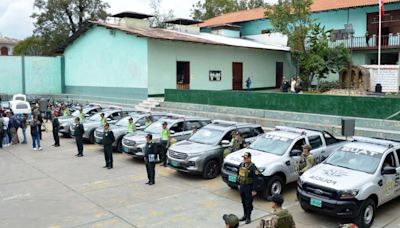
[[[400,0],[385,0],[385,4],[394,2],[400,2]],[[311,11],[319,12],[326,10],[363,7],[371,5],[378,5],[378,0],[314,0],[314,3],[311,6]],[[265,9],[256,8],[251,10],[243,10],[238,12],[227,13],[218,17],[214,17],[206,20],[204,23],[199,24],[199,26],[208,27],[212,25],[253,21],[263,18],[265,18]]]

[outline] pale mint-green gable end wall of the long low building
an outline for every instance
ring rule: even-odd
[[[111,96],[147,96],[147,40],[95,27],[64,53],[66,92]]]

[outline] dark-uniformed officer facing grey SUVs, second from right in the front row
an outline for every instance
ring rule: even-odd
[[[155,184],[154,177],[156,175],[155,166],[157,161],[157,149],[156,145],[153,144],[153,136],[148,134],[146,136],[146,145],[144,147],[144,160],[146,162],[146,171],[149,181],[148,185]]]

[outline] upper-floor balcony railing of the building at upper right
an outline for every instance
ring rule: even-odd
[[[376,49],[378,48],[378,36],[353,36],[347,39],[329,41],[329,47],[337,47],[343,44],[347,48],[352,49]],[[382,48],[399,48],[400,33],[381,36]]]

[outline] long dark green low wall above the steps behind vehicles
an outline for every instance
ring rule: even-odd
[[[166,90],[165,101],[377,119],[400,110],[400,98],[290,93]],[[394,120],[400,120],[400,116]]]

